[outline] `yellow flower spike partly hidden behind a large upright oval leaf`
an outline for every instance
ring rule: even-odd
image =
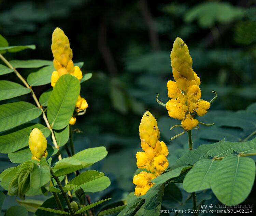
[[[64,74],[71,74],[75,76],[79,81],[83,78],[82,71],[79,66],[74,66],[72,61],[73,51],[70,48],[69,39],[65,33],[56,28],[52,35],[52,53],[53,53],[53,66],[56,71],[52,73],[51,85],[54,88],[55,83]],[[79,95],[76,102],[76,112],[84,111],[88,107],[86,100]],[[76,118],[73,116],[69,124],[74,125]]]

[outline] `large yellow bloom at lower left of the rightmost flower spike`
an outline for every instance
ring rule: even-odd
[[[188,110],[188,106],[183,104],[183,100],[171,99],[166,103],[166,109],[171,118],[182,120],[185,118],[185,113]]]

